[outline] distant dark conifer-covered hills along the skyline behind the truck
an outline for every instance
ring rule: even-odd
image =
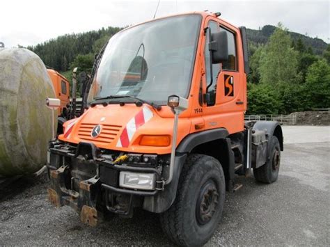
[[[247,36],[251,49],[265,45],[269,36],[274,33],[275,26],[266,25],[260,30],[247,29]],[[89,31],[86,33],[66,34],[53,40],[46,41],[34,47],[28,47],[34,51],[49,67],[59,71],[66,71],[72,65],[74,58],[80,55],[86,56],[86,60],[93,60],[93,56],[100,51],[109,38],[120,31],[119,27],[109,26],[107,29]],[[313,53],[321,55],[327,49],[327,43],[318,38],[310,38],[299,33],[288,32],[292,40],[301,39],[306,48],[311,47]],[[81,59],[82,57],[80,57]]]

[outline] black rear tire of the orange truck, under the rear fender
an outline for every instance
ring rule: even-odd
[[[278,138],[272,136],[270,140],[270,159],[265,165],[259,168],[253,169],[254,178],[258,182],[271,184],[275,182],[278,177],[278,171],[280,170],[281,161],[281,148]]]

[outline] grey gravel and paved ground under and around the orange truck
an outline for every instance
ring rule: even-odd
[[[240,177],[244,186],[226,195],[222,221],[207,246],[329,246],[330,127],[284,127],[283,132],[278,181],[265,185],[253,175]],[[114,217],[91,228],[73,209],[50,205],[47,186],[25,177],[0,190],[0,246],[173,245],[157,214],[139,210],[134,218]]]

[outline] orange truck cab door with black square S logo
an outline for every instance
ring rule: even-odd
[[[244,129],[244,104],[246,83],[245,75],[239,72],[237,59],[237,33],[228,27],[221,25],[216,19],[210,19],[205,33],[205,87],[210,85],[210,51],[208,47],[209,34],[207,32],[226,32],[228,41],[228,61],[212,65],[213,83],[208,92],[214,97],[212,104],[205,104],[203,115],[205,118],[205,129],[225,127],[228,132],[235,133]],[[239,42],[240,44],[240,42]],[[243,69],[243,68],[242,68]],[[242,70],[241,69],[241,70]],[[246,85],[244,85],[246,86]],[[206,89],[205,89],[206,91]]]

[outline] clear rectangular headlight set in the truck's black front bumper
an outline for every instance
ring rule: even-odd
[[[119,186],[129,189],[155,189],[155,174],[120,172]]]

